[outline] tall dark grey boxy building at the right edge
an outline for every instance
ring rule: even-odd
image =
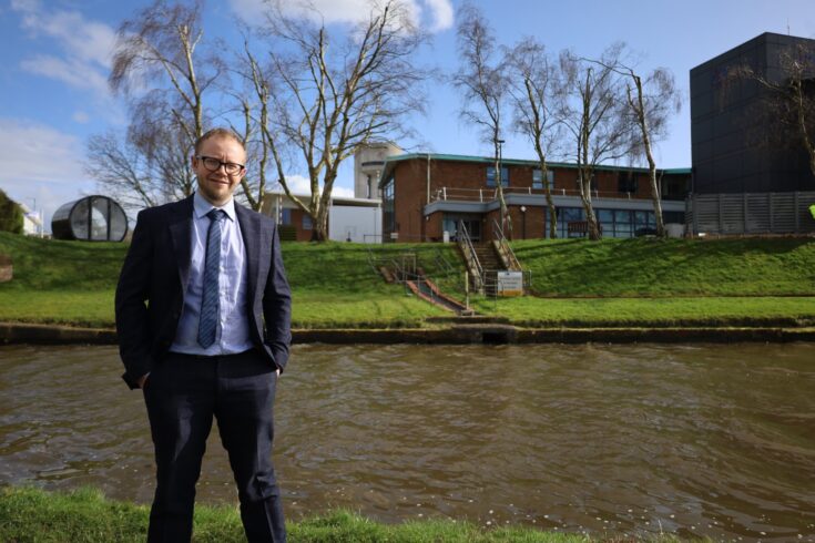
[[[804,146],[791,144],[770,113],[770,91],[729,78],[747,65],[768,81],[784,81],[780,59],[795,48],[815,52],[815,40],[767,32],[691,70],[694,193],[815,191]]]

